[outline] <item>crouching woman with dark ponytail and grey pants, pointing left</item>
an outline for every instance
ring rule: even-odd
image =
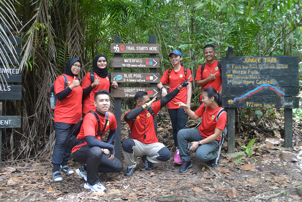
[[[220,135],[226,125],[226,113],[223,110],[216,121],[218,112],[223,109],[222,96],[212,87],[207,87],[202,92],[202,105],[193,112],[184,103],[178,104],[180,108],[185,108],[191,119],[202,117],[201,125],[198,129],[182,129],[177,134],[179,155],[182,159],[182,166],[179,172],[186,172],[192,167],[191,156],[186,148],[187,142],[191,142],[191,151],[195,151],[195,156],[199,161],[209,161],[209,165],[216,166],[217,152]]]

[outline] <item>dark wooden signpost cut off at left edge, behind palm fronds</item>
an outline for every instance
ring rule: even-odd
[[[3,23],[0,24],[6,33],[10,33],[9,28]],[[3,36],[3,35],[2,35]],[[22,72],[19,69],[22,61],[21,45],[19,37],[1,37],[1,50],[5,54],[0,56],[0,140],[2,140],[2,128],[20,128],[21,116],[2,116],[3,99],[22,99],[22,86],[11,85],[10,82],[21,83]],[[14,47],[9,47],[11,44]],[[7,66],[9,64],[9,66]],[[0,169],[1,169],[2,141],[0,142]]]

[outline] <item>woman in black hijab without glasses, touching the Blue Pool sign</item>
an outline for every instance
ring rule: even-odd
[[[95,111],[94,96],[98,90],[110,90],[110,87],[117,87],[117,83],[110,82],[110,73],[107,68],[107,57],[98,54],[94,59],[94,68],[91,72],[86,73],[83,79],[83,115],[89,111]]]

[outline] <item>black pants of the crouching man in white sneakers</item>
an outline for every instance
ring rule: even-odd
[[[72,153],[75,161],[86,163],[87,182],[90,185],[97,184],[100,180],[98,173],[117,173],[123,170],[123,163],[117,158],[108,160],[110,155],[103,154],[99,147],[83,145]]]

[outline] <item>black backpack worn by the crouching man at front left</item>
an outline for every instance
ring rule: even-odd
[[[96,136],[98,135],[103,135],[104,133],[104,130],[106,128],[106,125],[107,125],[107,122],[109,121],[109,114],[108,112],[105,113],[105,116],[106,116],[106,121],[105,121],[105,125],[104,125],[104,128],[103,130],[100,132],[100,119],[98,118],[98,115],[96,114],[95,111],[89,111],[88,113],[92,113],[95,115],[95,118],[98,122],[98,133]],[[77,139],[77,136],[79,135],[80,133],[80,130],[81,130],[81,126],[83,124],[83,119],[80,119],[76,125],[74,126],[74,128],[72,129],[72,131],[69,133],[69,135],[67,135],[66,139],[65,139],[65,145],[66,145],[66,148],[72,150],[72,148],[74,148],[75,146],[77,145],[81,145],[83,142],[85,142],[85,138],[83,139]]]

